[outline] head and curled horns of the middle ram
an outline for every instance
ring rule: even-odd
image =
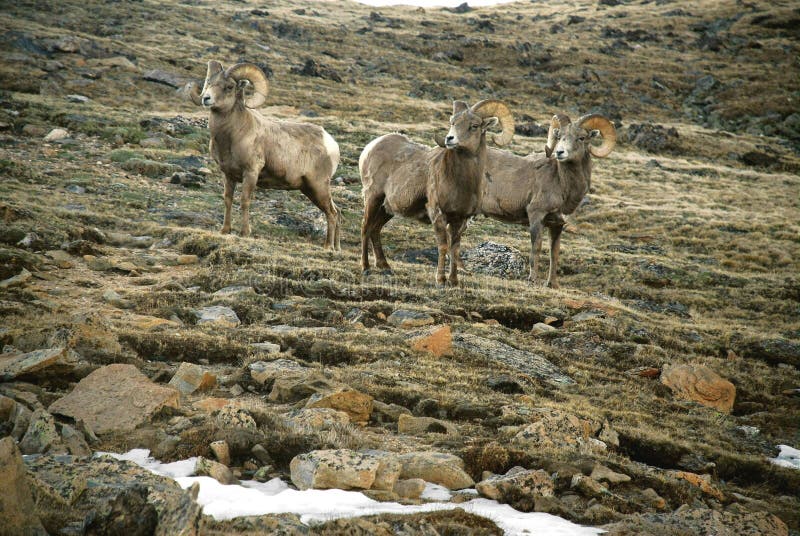
[[[447,136],[434,137],[436,144],[447,149],[478,151],[486,131],[499,125],[501,133],[492,136],[495,145],[503,146],[514,136],[514,117],[508,106],[498,100],[487,99],[470,107],[466,102],[453,101],[453,115]]]

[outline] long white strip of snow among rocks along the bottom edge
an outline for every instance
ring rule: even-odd
[[[340,489],[296,490],[279,478],[268,482],[243,481],[241,485],[224,485],[206,476],[191,476],[197,458],[173,463],[161,463],[150,456],[147,449],[134,449],[125,454],[97,453],[118,460],[134,462],[156,474],[174,478],[184,489],[195,482],[200,485],[197,502],[203,513],[214,519],[233,519],[240,516],[293,513],[303,523],[319,523],[342,517],[375,514],[415,514],[438,510],[463,508],[467,512],[491,519],[507,536],[547,534],[550,536],[594,536],[604,532],[594,527],[583,527],[560,517],[541,512],[519,512],[506,504],[489,499],[472,499],[463,503],[429,502],[420,505],[403,505],[396,502],[378,502],[357,491]],[[472,490],[462,490],[472,491]],[[427,484],[423,498],[447,501],[452,493],[437,484]]]

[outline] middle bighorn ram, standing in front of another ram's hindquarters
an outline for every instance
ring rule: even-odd
[[[486,131],[499,123],[502,132],[493,137],[498,146],[514,135],[514,118],[497,100],[484,100],[471,108],[453,102],[450,131],[437,139],[439,147],[426,147],[401,134],[387,134],[371,141],[361,153],[364,220],[361,225],[361,267],[369,271],[369,245],[379,269],[389,271],[381,246],[381,229],[394,216],[430,221],[436,233],[439,261],[436,282],[458,285],[461,233],[478,213],[485,182]],[[445,258],[450,271],[445,278]]]

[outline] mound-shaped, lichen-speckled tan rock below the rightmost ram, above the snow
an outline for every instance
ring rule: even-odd
[[[532,412],[532,424],[525,426],[513,443],[528,450],[557,449],[584,454],[604,452],[606,446],[592,437],[598,428],[588,420],[555,408],[538,408]]]

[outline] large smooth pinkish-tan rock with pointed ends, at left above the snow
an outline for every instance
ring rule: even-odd
[[[164,407],[177,408],[179,392],[151,382],[133,365],[101,367],[83,378],[51,413],[83,419],[97,434],[129,432]]]

